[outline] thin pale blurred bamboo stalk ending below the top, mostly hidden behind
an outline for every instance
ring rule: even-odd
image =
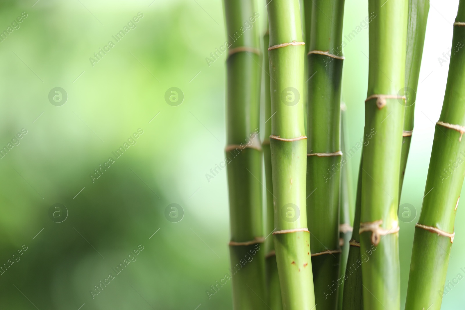
[[[341,151],[345,154],[347,145],[347,107],[341,103]],[[343,155],[344,156],[344,155]],[[339,264],[339,277],[336,283],[339,285],[338,291],[338,309],[342,310],[342,301],[344,294],[344,278],[347,257],[349,256],[349,242],[353,231],[353,217],[355,204],[352,201],[352,171],[350,164],[342,165],[341,182],[340,182],[340,199],[339,199],[339,245],[341,245],[341,262]],[[342,282],[342,284],[339,284]]]

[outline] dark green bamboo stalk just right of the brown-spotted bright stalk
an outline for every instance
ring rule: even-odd
[[[307,223],[312,244],[315,302],[334,310],[339,277],[339,145],[344,0],[310,0],[308,52]],[[308,34],[308,33],[307,33]],[[336,289],[337,290],[337,289]]]

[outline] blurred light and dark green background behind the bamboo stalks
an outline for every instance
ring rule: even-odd
[[[226,144],[226,55],[206,62],[225,41],[221,1],[36,1],[0,4],[0,31],[27,14],[0,43],[0,148],[8,149],[0,158],[0,265],[8,267],[0,308],[232,309],[230,282],[206,294],[229,267],[226,171],[205,176],[224,159]],[[403,299],[457,5],[431,1],[401,198],[416,210],[400,223]],[[138,13],[135,28],[116,42],[112,36]],[[259,13],[264,33],[264,0]],[[362,29],[344,48],[349,147],[363,135],[369,60],[360,23],[367,15],[366,0],[346,0],[344,32]],[[89,58],[109,40],[114,46],[92,65]],[[55,87],[65,90],[64,104],[49,101]],[[165,100],[171,87],[183,93],[178,106]],[[13,139],[22,128],[27,134]],[[139,128],[133,145],[114,156]],[[352,171],[359,156],[350,159]],[[115,162],[92,180],[109,157]],[[173,203],[184,213],[177,223],[165,216]],[[448,280],[465,275],[462,205]],[[136,260],[116,275],[113,268],[138,247]],[[110,273],[115,279],[93,296]],[[464,289],[464,281],[455,284],[442,309],[462,307]]]

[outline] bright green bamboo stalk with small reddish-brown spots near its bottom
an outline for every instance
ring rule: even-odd
[[[267,0],[273,232],[284,310],[315,306],[306,216],[304,43],[298,0]]]

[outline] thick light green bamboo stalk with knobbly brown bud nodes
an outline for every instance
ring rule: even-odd
[[[404,123],[407,0],[369,0],[368,91],[360,211],[360,251],[375,245],[362,266],[364,308],[400,309],[399,171]]]

